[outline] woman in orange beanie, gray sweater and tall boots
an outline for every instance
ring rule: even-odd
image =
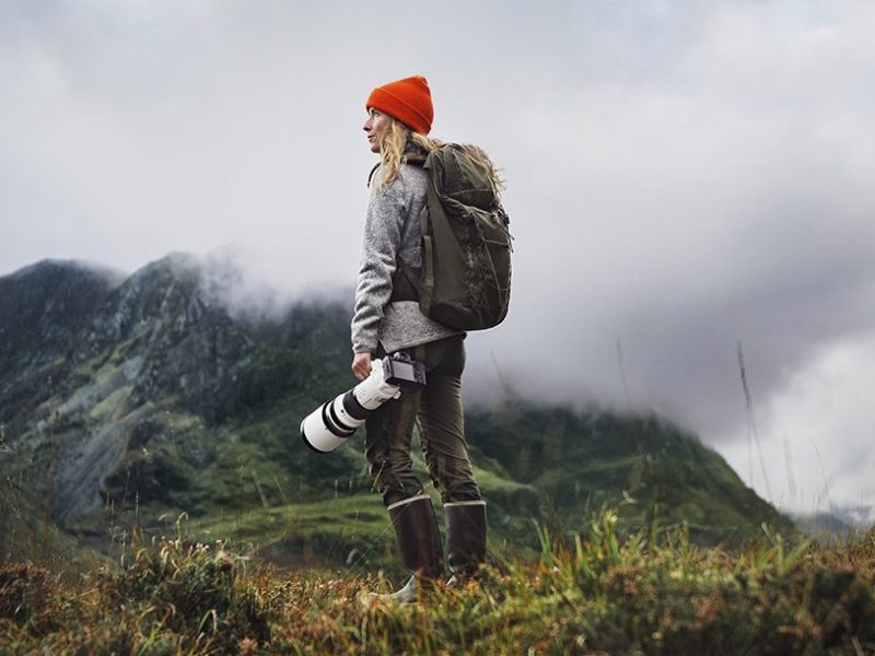
[[[423,315],[406,271],[422,262],[419,213],[428,174],[421,164],[442,148],[427,134],[434,110],[428,82],[406,78],[376,87],[363,129],[380,155],[372,171],[361,268],[352,318],[352,372],[364,379],[373,358],[404,352],[425,366],[427,385],[404,391],[369,418],[365,455],[383,495],[405,565],[413,572],[392,598],[409,602],[443,573],[443,550],[431,499],[412,471],[410,442],[419,421],[425,466],[444,504],[451,581],[470,576],[486,555],[486,502],[471,472],[462,408],[465,333]],[[500,180],[489,159],[467,147]]]

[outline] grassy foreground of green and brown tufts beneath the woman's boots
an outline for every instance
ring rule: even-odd
[[[365,607],[382,574],[252,567],[176,539],[120,565],[0,567],[0,654],[875,654],[875,530],[842,546],[621,540],[612,512],[535,562],[499,559],[427,604]],[[494,559],[493,559],[494,560]]]

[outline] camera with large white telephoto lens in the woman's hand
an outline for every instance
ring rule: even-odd
[[[406,353],[375,359],[371,374],[352,389],[326,401],[301,422],[301,438],[316,453],[335,450],[355,433],[368,415],[401,390],[425,386],[425,366]]]

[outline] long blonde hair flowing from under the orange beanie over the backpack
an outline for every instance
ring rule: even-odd
[[[413,145],[413,152],[410,152],[408,144]],[[424,134],[415,132],[401,121],[392,118],[386,137],[380,144],[380,164],[383,175],[382,179],[377,180],[377,187],[385,187],[394,183],[398,177],[401,164],[406,164],[411,160],[424,160],[425,155],[431,151],[440,150],[446,145],[448,144],[445,141],[429,139]],[[465,151],[465,154],[487,173],[489,180],[492,183],[492,191],[495,198],[501,201],[504,180],[499,175],[499,169],[495,168],[492,160],[486,154],[486,151],[472,143],[462,143],[458,144],[458,148]]]

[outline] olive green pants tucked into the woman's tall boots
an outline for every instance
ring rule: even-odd
[[[415,393],[402,391],[399,398],[386,401],[368,418],[364,453],[374,488],[387,506],[416,496],[422,490],[410,457],[417,420],[425,467],[442,501],[482,499],[474,480],[465,441],[464,340],[464,336],[455,336],[407,349],[408,355],[425,365],[425,387]]]

